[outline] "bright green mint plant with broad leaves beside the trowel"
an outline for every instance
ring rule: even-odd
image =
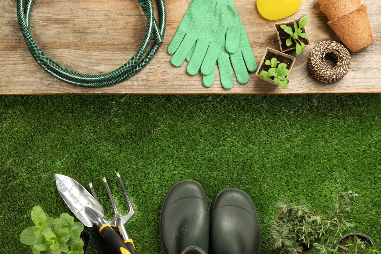
[[[40,206],[35,206],[30,216],[35,225],[22,231],[20,241],[29,245],[33,254],[83,254],[80,235],[84,226],[74,222],[74,217],[63,213],[53,219]]]

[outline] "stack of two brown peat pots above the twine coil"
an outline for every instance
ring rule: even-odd
[[[318,0],[320,10],[330,20],[328,25],[341,42],[351,51],[357,52],[375,40],[370,28],[367,6],[360,0]]]

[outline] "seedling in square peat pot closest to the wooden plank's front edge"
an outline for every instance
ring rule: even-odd
[[[295,58],[288,54],[267,48],[256,75],[269,83],[287,88],[290,82],[287,77],[295,63]]]

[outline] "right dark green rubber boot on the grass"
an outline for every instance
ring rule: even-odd
[[[221,191],[213,206],[210,237],[213,254],[257,254],[261,229],[253,201],[238,189]]]

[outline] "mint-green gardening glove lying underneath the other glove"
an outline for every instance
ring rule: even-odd
[[[192,50],[187,56],[187,60],[192,58]],[[233,87],[233,73],[230,62],[233,65],[235,76],[237,81],[241,84],[245,84],[249,81],[249,73],[255,72],[258,68],[257,62],[253,51],[251,51],[251,46],[249,39],[247,38],[245,27],[240,21],[240,40],[239,47],[236,53],[232,54],[226,51],[224,46],[221,46],[219,51],[217,64],[219,70],[219,76],[221,78],[221,84],[223,88],[230,89]],[[202,83],[206,87],[213,85],[216,75],[216,68],[213,68],[213,71],[209,75],[202,76]]]

